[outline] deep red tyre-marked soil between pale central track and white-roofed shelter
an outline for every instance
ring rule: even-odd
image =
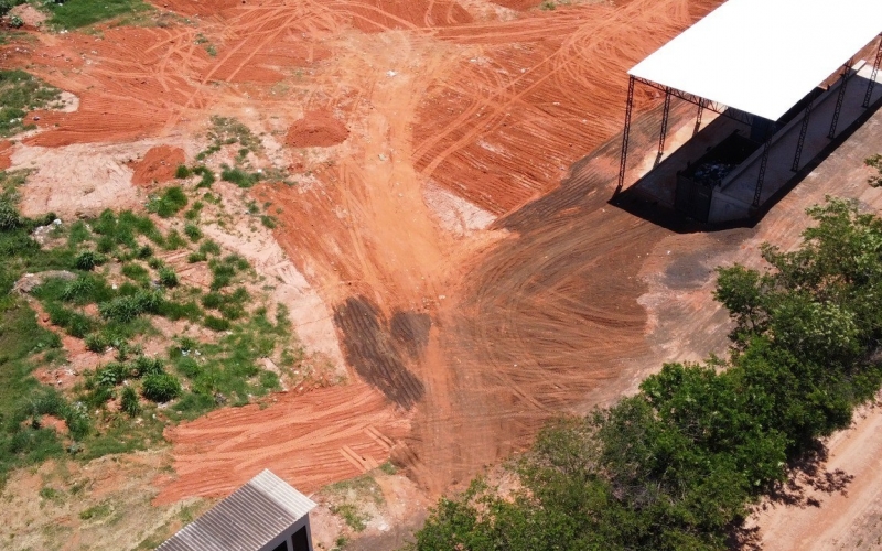
[[[603,3],[439,31],[481,54],[421,104],[417,169],[495,214],[537,198],[621,130],[626,71],[718,3]],[[652,99],[639,89],[638,109]]]

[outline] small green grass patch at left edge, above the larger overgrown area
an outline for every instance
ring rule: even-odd
[[[36,128],[24,116],[51,108],[61,91],[23,71],[0,69],[0,137]]]

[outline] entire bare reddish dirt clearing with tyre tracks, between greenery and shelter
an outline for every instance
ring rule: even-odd
[[[174,475],[157,503],[227,495],[265,466],[311,491],[388,458],[435,497],[550,417],[724,349],[712,268],[755,266],[764,240],[794,246],[831,180],[878,208],[861,173],[878,137],[856,134],[836,171],[753,228],[677,233],[610,204],[625,69],[718,3],[171,0],[189,23],[2,47],[0,66],[78,98],[0,143],[0,166],[34,169],[26,214],[140,208],[180,152],[204,149],[213,115],[247,125],[255,165],[293,184],[247,197],[216,184],[279,225],[204,231],[273,282],[302,342],[351,382],[169,431]],[[638,112],[657,105],[639,91]],[[671,134],[693,115],[675,105]],[[656,132],[638,118],[634,151]],[[649,159],[633,156],[635,170]]]

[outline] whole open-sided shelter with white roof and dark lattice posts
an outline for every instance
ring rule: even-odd
[[[882,0],[727,0],[628,71],[616,193],[639,84],[665,98],[655,168],[642,188],[704,223],[760,216],[879,108],[880,32]],[[870,63],[856,60],[868,52]],[[666,156],[671,99],[697,106],[696,147]],[[701,130],[706,110],[728,121]]]

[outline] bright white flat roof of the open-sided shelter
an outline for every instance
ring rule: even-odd
[[[628,74],[778,120],[882,32],[882,0],[729,0]]]

